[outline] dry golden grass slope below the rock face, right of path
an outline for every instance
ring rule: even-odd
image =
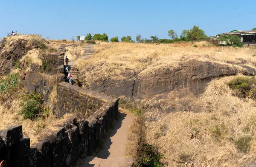
[[[208,112],[162,114],[157,122],[146,122],[147,142],[159,148],[169,167],[185,162],[194,162],[198,167],[246,166],[256,162],[255,102],[232,96],[227,82],[234,77],[209,83],[195,102],[211,106]]]

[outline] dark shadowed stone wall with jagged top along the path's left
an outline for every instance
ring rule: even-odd
[[[52,131],[30,148],[30,140],[23,138],[22,126],[0,131],[0,161],[5,167],[69,167],[80,156],[90,156],[99,139],[104,138],[118,113],[118,100],[103,105],[88,119],[68,120],[63,127]]]

